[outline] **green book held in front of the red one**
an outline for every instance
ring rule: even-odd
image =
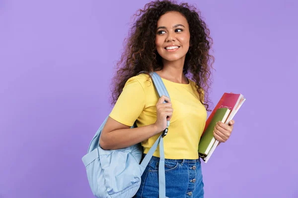
[[[218,121],[225,122],[230,110],[228,108],[218,108],[216,113],[214,114],[210,124],[206,128],[203,136],[201,137],[199,143],[199,155],[201,157],[206,157],[211,150],[212,146],[214,145],[216,139],[213,135],[214,127]]]

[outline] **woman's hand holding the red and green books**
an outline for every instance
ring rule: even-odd
[[[230,137],[235,121],[229,121],[228,125],[218,121],[214,127],[213,135],[220,143],[224,143]]]

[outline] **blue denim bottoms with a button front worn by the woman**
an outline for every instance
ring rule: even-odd
[[[134,198],[158,198],[159,158],[152,156]],[[165,194],[168,198],[204,198],[201,160],[165,159]]]

